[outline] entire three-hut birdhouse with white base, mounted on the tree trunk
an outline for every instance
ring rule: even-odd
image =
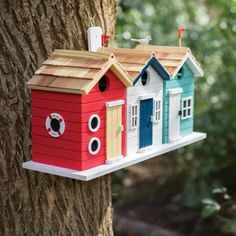
[[[206,138],[194,132],[189,48],[56,50],[28,82],[32,160],[26,169],[90,180]],[[93,38],[95,37],[95,41]]]

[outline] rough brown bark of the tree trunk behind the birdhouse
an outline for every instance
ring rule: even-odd
[[[116,0],[0,1],[0,235],[113,235],[110,177],[74,181],[22,169],[30,159],[25,83],[55,48],[112,34]]]

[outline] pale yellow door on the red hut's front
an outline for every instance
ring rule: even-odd
[[[122,157],[122,104],[107,106],[106,109],[106,151],[109,163]]]

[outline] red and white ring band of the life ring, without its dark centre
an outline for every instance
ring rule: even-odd
[[[51,127],[51,120],[52,119],[56,119],[60,123],[60,128],[59,128],[59,130],[57,132],[54,131],[52,129],[52,127]],[[48,134],[50,136],[52,136],[53,138],[58,138],[61,135],[63,135],[63,133],[65,132],[65,121],[64,121],[63,117],[60,114],[58,114],[58,113],[51,113],[50,115],[48,115],[46,117],[45,127],[46,127],[46,130],[47,130],[47,132],[48,132]]]

